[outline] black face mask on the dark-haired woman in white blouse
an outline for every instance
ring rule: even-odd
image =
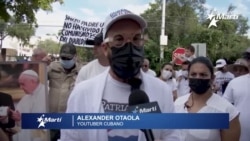
[[[204,94],[210,88],[211,79],[189,78],[189,87],[196,94]]]

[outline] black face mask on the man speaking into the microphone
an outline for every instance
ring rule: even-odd
[[[123,47],[111,47],[111,52],[110,66],[119,78],[130,79],[140,72],[144,56],[143,47],[126,43]]]

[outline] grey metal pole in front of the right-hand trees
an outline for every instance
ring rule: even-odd
[[[162,1],[162,23],[161,23],[161,35],[165,35],[165,16],[166,15],[166,0]],[[164,46],[160,46],[160,60],[164,59]]]

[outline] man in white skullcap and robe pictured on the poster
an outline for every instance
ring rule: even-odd
[[[40,83],[38,74],[33,70],[25,70],[20,74],[18,82],[25,95],[17,103],[16,109],[20,113],[46,113],[46,89]],[[21,122],[18,127],[21,128]],[[13,141],[46,141],[46,136],[44,130],[21,129],[13,136]]]

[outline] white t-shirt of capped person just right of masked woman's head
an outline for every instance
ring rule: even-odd
[[[222,73],[221,71],[215,72],[215,85],[219,87],[217,94],[222,95],[222,85],[234,79],[234,75],[231,72]]]

